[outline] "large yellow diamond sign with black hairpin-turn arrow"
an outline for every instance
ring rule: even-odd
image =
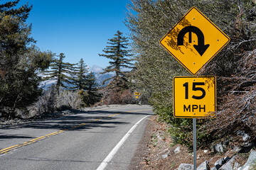
[[[228,42],[230,38],[196,7],[191,8],[160,40],[160,44],[193,75]]]

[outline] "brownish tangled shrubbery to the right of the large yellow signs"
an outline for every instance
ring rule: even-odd
[[[201,72],[218,77],[218,113],[205,130],[211,138],[235,129],[256,135],[256,2],[213,1],[201,8],[231,39]]]

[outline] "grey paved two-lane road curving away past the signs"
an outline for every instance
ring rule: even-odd
[[[108,108],[0,129],[0,170],[127,169],[152,114],[149,106]]]

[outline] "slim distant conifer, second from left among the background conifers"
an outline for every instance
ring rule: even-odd
[[[80,60],[78,67],[75,67],[75,72],[73,72],[73,90],[84,90],[87,88],[87,74],[88,69],[84,60]]]

